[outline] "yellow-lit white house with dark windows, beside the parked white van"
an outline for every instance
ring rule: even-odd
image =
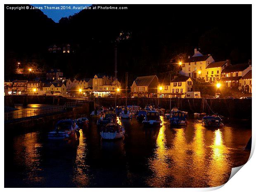
[[[163,82],[157,87],[157,95],[161,98],[186,97],[186,92],[193,91],[193,81],[191,77],[178,76],[168,82]]]

